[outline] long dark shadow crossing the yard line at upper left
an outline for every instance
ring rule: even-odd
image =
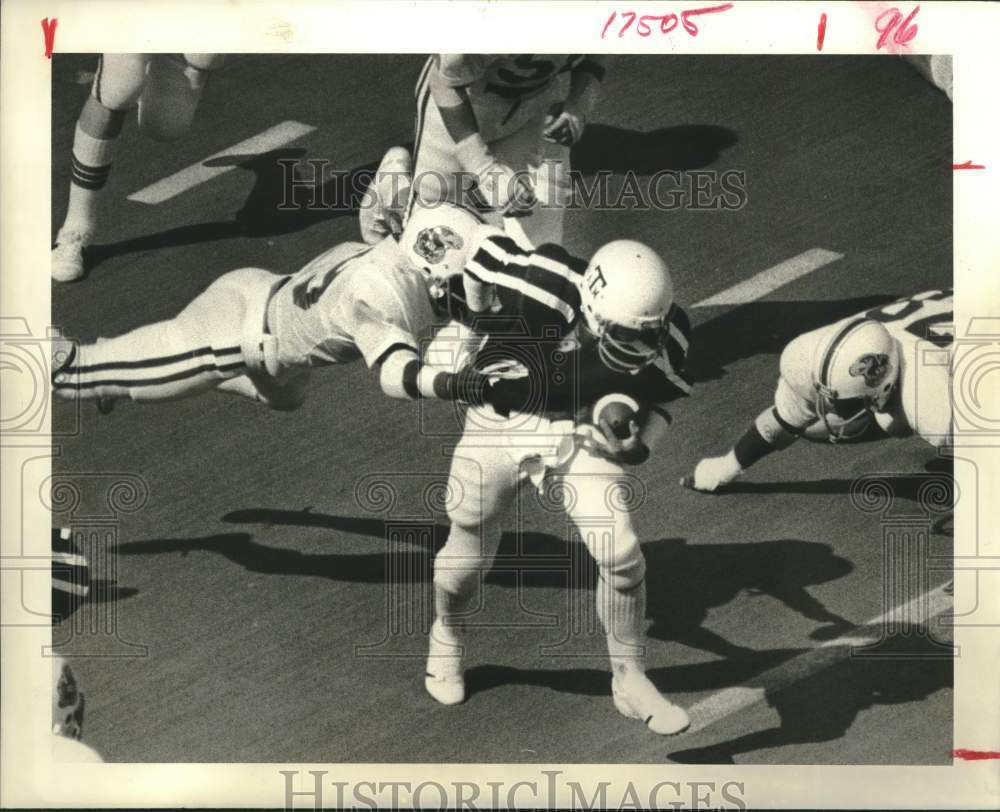
[[[253,175],[253,188],[231,217],[93,245],[87,249],[88,269],[113,257],[140,251],[217,240],[275,237],[355,215],[378,163],[335,171],[339,169],[335,164],[325,161],[311,164],[304,160],[305,155],[304,148],[296,147],[205,161],[208,167],[235,167]]]

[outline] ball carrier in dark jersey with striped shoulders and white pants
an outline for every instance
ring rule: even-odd
[[[609,243],[588,263],[554,245],[527,251],[494,232],[478,241],[463,281],[470,311],[481,314],[473,328],[486,337],[472,366],[498,380],[488,404],[470,407],[452,459],[462,498],[449,507],[451,529],[434,562],[426,689],[443,704],[464,700],[464,623],[503,513],[523,484],[553,476],[598,566],[615,706],[657,733],[678,733],[687,713],[645,673],[645,559],[624,468],[646,459],[654,424],[669,420],[649,407],[690,391],[680,373],[690,328],[670,274],[641,243]],[[629,404],[635,419],[615,430],[601,416],[609,400]],[[643,412],[658,417],[643,421]],[[600,527],[595,510],[610,511]]]

